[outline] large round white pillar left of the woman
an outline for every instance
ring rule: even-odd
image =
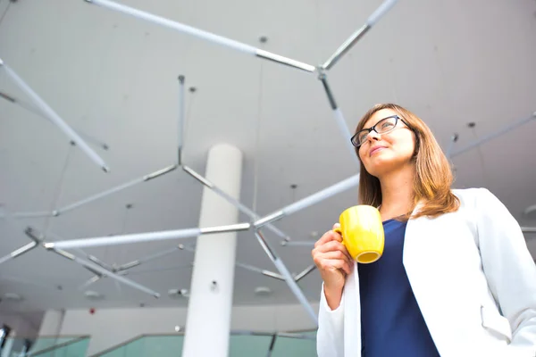
[[[205,179],[239,200],[242,153],[215,145],[208,153]],[[203,190],[199,227],[237,223],[239,211],[209,188]],[[197,237],[190,285],[183,357],[222,357],[229,353],[230,314],[237,233]]]

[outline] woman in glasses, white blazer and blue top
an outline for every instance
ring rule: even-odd
[[[352,143],[385,248],[357,265],[333,230],[314,245],[318,355],[536,356],[536,266],[507,208],[484,188],[451,190],[431,130],[396,104],[366,112]]]

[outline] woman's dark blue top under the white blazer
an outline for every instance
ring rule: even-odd
[[[402,264],[406,222],[383,222],[381,258],[359,264],[362,357],[440,357]]]

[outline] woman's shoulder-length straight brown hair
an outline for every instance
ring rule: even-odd
[[[443,154],[440,145],[431,133],[430,128],[423,120],[413,112],[397,104],[376,104],[366,112],[357,124],[356,132],[363,129],[364,124],[375,112],[382,109],[390,109],[406,121],[409,129],[415,133],[415,180],[414,180],[414,203],[412,211],[417,203],[423,203],[419,212],[411,216],[409,212],[402,220],[421,216],[437,217],[440,214],[456,212],[459,208],[459,199],[454,195],[450,186],[453,175],[447,157]],[[361,166],[359,175],[359,202],[378,207],[381,204],[380,180],[364,169],[364,164],[359,158],[359,148],[356,147],[357,158]],[[410,217],[411,216],[411,217]]]

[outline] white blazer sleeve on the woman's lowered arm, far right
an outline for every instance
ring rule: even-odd
[[[536,353],[536,265],[507,207],[485,188],[476,215],[482,268],[512,328],[511,345]]]

